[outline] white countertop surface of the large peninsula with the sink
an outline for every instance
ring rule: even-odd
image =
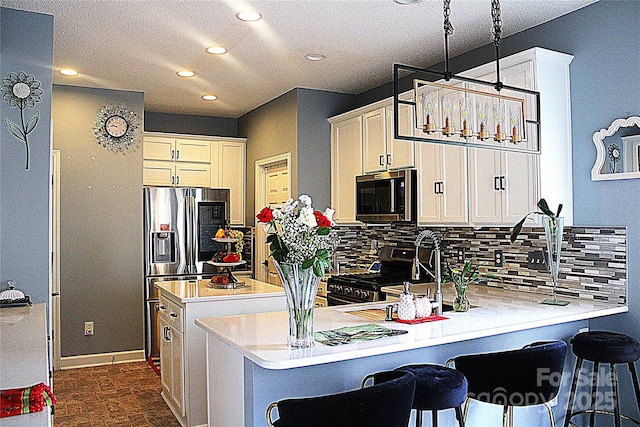
[[[444,286],[443,294],[445,302],[453,299],[451,287]],[[574,298],[567,298],[571,304],[565,307],[542,305],[539,301],[548,295],[488,286],[472,286],[468,297],[472,306],[477,307],[466,313],[445,312],[447,320],[415,325],[374,322],[347,312],[384,308],[387,305],[384,302],[318,308],[315,310],[315,331],[378,323],[394,329],[406,329],[408,333],[336,347],[316,343],[314,348],[306,350],[288,348],[286,312],[197,319],[196,324],[263,368],[289,369],[448,344],[628,311],[626,306]]]

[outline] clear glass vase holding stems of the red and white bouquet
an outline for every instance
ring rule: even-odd
[[[303,269],[302,264],[273,261],[284,286],[289,311],[289,338],[291,348],[313,347],[313,309],[320,278],[313,268]]]

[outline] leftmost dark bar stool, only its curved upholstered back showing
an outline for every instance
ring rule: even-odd
[[[380,383],[342,393],[284,399],[267,408],[273,427],[406,426],[416,380],[410,372],[382,372]],[[272,420],[277,409],[278,419]]]

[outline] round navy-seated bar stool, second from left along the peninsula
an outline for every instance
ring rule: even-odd
[[[422,412],[431,411],[431,425],[438,426],[438,411],[454,409],[458,424],[464,427],[462,404],[467,398],[467,379],[455,369],[440,365],[419,364],[397,368],[395,372],[410,372],[416,378],[412,407],[417,411],[416,426],[422,426]],[[365,377],[363,385],[373,378],[381,381],[385,373]]]

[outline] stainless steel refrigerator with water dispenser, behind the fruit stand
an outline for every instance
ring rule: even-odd
[[[159,295],[162,280],[208,279],[206,264],[226,244],[213,240],[229,222],[229,190],[144,189],[145,345],[147,358],[160,355]]]

